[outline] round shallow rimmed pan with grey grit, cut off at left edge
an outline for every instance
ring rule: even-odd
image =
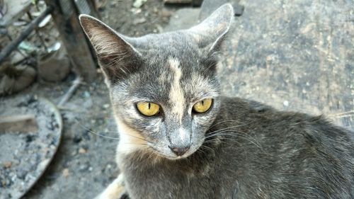
[[[57,152],[62,119],[50,101],[18,96],[0,101],[0,125],[0,198],[21,198]]]

